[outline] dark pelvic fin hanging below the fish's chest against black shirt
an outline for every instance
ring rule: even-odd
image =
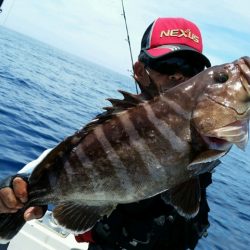
[[[192,178],[164,193],[162,199],[172,205],[176,211],[185,218],[193,218],[200,207],[200,181]]]

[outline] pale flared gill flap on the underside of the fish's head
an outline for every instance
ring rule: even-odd
[[[244,150],[249,138],[249,120],[236,121],[222,128],[214,129],[207,135],[203,135],[202,138],[211,149],[227,150],[232,144],[235,144]]]

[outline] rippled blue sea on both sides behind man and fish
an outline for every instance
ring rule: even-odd
[[[108,106],[131,78],[0,27],[0,178],[54,147]],[[208,236],[196,249],[250,246],[250,145],[222,159],[207,190]]]

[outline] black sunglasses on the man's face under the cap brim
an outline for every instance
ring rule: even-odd
[[[182,57],[172,57],[167,60],[155,61],[147,66],[161,74],[173,75],[180,72],[187,77],[192,77],[205,68],[204,65],[199,65],[191,59]]]

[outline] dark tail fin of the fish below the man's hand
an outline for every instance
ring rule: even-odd
[[[9,242],[23,227],[24,209],[13,214],[0,214],[0,244]]]

